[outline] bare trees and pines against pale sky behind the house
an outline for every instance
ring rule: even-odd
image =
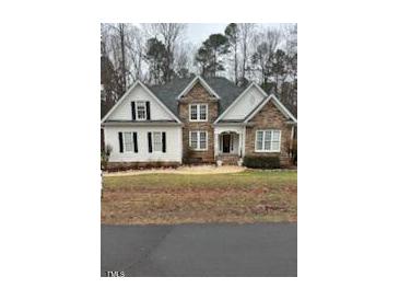
[[[193,74],[255,81],[297,112],[297,25],[231,23],[201,45],[184,23],[101,25],[102,116],[136,80],[165,84]]]

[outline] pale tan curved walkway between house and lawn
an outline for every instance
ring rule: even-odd
[[[195,165],[195,166],[179,166],[177,169],[151,169],[151,170],[131,170],[125,172],[103,173],[103,176],[131,176],[142,174],[184,174],[184,175],[203,175],[203,174],[225,174],[243,172],[246,168],[238,165]]]

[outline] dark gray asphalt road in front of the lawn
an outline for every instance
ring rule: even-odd
[[[296,223],[102,226],[101,275],[296,276]]]

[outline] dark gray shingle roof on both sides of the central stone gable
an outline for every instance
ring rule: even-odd
[[[176,116],[177,96],[192,81],[193,77],[185,79],[174,79],[163,85],[146,85]],[[214,90],[219,96],[219,115],[221,115],[233,101],[246,89],[246,86],[237,86],[230,80],[222,77],[203,78],[207,83]]]

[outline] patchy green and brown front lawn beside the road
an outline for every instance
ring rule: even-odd
[[[296,221],[296,172],[103,177],[102,223]]]

